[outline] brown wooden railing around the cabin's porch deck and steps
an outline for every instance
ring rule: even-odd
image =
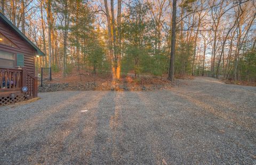
[[[37,97],[37,77],[22,68],[0,68],[0,92],[17,91],[23,86],[28,87],[27,97]]]

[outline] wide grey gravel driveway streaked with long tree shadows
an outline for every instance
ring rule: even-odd
[[[185,82],[1,107],[0,164],[256,164],[256,88]]]

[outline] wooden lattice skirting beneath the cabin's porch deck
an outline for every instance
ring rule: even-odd
[[[1,93],[0,93],[1,95]],[[23,93],[12,93],[10,95],[0,96],[0,106],[7,106],[15,102],[25,101],[29,98]]]

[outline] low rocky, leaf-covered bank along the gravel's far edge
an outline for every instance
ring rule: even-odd
[[[51,91],[64,91],[64,90],[115,90],[115,91],[143,91],[143,90],[162,90],[170,89],[174,86],[180,86],[184,84],[179,80],[173,82],[166,79],[158,79],[154,77],[141,77],[133,79],[133,77],[125,77],[131,82],[121,80],[113,85],[111,81],[75,81],[75,82],[44,82],[43,86],[38,87],[39,92],[51,92]],[[114,86],[114,87],[113,87]]]

